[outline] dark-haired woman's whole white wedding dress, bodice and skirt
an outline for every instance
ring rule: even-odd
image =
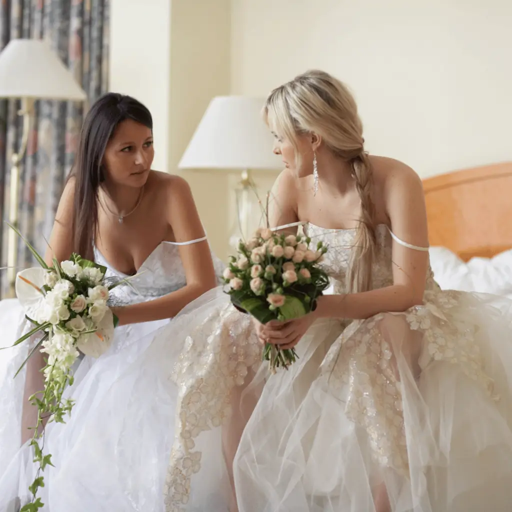
[[[148,301],[183,287],[186,282],[178,245],[158,245],[130,281],[133,288],[114,289],[115,302]],[[96,261],[108,268],[107,276],[125,277],[98,251]],[[214,261],[220,275],[223,264]],[[20,335],[23,315],[16,300],[0,302],[0,346],[12,345]],[[104,404],[112,384],[144,353],[153,333],[170,325],[172,321],[166,319],[118,327],[108,352],[97,359],[83,357],[77,361],[74,385],[66,392],[75,400],[71,417],[65,418],[66,424],[49,423],[45,432],[44,453],[52,454],[55,467],[47,467],[43,474],[45,487],[38,493],[45,503],[42,510],[161,509],[172,444],[169,424],[176,407],[172,394],[167,388],[160,392],[159,374],[153,365],[139,368],[146,380],[132,380],[122,393],[108,400],[108,409]],[[172,343],[170,330],[166,332]],[[0,351],[0,512],[17,512],[20,504],[28,501],[28,486],[34,479],[31,447],[26,444],[20,448],[25,372],[12,378],[27,354],[27,343]],[[156,362],[170,365],[172,359]]]

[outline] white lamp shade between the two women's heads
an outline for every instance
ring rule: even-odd
[[[263,98],[218,96],[210,101],[178,167],[280,169],[272,135],[261,115]]]

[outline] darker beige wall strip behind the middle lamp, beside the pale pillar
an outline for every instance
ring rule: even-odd
[[[170,74],[170,158],[177,165],[211,98],[229,94],[230,1],[172,0]],[[220,258],[228,253],[228,175],[186,171],[210,244]]]

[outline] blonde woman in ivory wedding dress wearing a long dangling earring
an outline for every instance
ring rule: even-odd
[[[335,293],[261,326],[207,292],[158,333],[103,411],[130,386],[178,390],[167,512],[508,511],[512,304],[439,289],[421,182],[365,152],[341,82],[305,73],[264,112],[286,166],[271,223],[328,244]],[[271,374],[263,342],[300,358]]]

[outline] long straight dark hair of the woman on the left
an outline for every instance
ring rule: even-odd
[[[98,229],[98,188],[105,179],[103,155],[122,121],[132,119],[153,130],[150,111],[130,96],[108,93],[99,98],[83,121],[75,163],[69,178],[75,180],[73,251],[94,259]]]

